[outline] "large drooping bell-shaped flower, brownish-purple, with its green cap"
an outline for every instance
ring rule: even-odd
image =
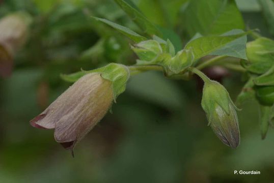
[[[103,118],[124,91],[127,79],[127,70],[118,64],[85,74],[30,123],[36,128],[54,129],[55,140],[73,155],[75,144]]]

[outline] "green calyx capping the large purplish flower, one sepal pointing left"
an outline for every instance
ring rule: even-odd
[[[69,75],[62,74],[61,77],[65,81],[75,82],[80,77],[88,73],[100,73],[102,78],[112,82],[114,102],[116,102],[117,97],[125,91],[126,82],[130,76],[130,72],[126,66],[111,63],[104,67],[94,69],[91,71],[82,70],[80,72]]]

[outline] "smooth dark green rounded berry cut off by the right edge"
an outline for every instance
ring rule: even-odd
[[[256,97],[260,104],[272,106],[274,103],[274,86],[256,86]]]

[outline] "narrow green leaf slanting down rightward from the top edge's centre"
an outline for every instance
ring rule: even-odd
[[[144,31],[144,33],[161,37],[161,33],[140,11],[136,10],[123,0],[115,2],[124,10],[124,12]]]

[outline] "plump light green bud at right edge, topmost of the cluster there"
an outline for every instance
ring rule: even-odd
[[[256,74],[263,74],[274,64],[274,41],[268,38],[258,38],[246,44],[246,56],[243,60],[245,69]]]

